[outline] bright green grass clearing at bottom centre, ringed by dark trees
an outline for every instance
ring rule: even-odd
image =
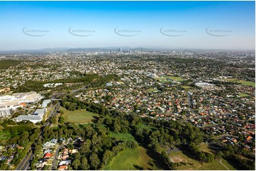
[[[121,151],[106,166],[106,170],[159,170],[156,166],[149,164],[150,156],[145,148],[127,149]]]

